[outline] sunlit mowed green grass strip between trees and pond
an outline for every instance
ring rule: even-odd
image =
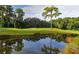
[[[34,35],[34,34],[79,34],[76,30],[61,30],[57,28],[0,28],[0,35]]]

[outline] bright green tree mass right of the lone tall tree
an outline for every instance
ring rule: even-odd
[[[52,26],[59,29],[79,29],[79,17],[58,18],[52,21]]]

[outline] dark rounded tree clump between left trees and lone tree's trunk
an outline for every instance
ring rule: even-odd
[[[41,27],[45,28],[45,27],[50,26],[49,22],[46,22],[46,21],[41,20],[41,19],[36,18],[36,17],[26,18],[26,19],[24,19],[24,22],[26,24],[25,25],[26,28],[31,28],[31,27],[33,27],[33,28],[41,28]]]

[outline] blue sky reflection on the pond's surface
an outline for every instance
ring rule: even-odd
[[[13,52],[13,53],[42,53],[41,48],[46,45],[50,46],[50,38],[40,39],[39,41],[27,41],[23,40],[24,47],[21,52]],[[52,40],[53,48],[64,48],[64,42],[57,42],[56,40]]]

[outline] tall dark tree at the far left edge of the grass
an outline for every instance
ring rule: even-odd
[[[10,17],[12,16],[12,6],[11,5],[1,5],[0,6],[0,15],[1,19],[4,20],[4,23],[7,23],[7,27],[9,27]]]

